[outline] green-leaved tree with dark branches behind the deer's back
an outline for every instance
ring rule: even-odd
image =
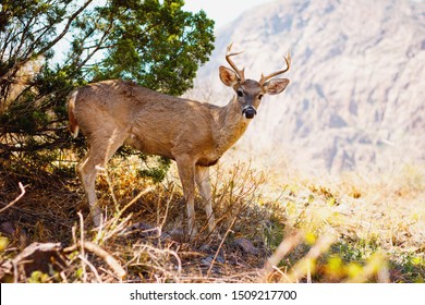
[[[52,169],[71,147],[65,99],[74,87],[124,78],[181,95],[214,48],[214,22],[185,12],[182,0],[0,3],[0,171]]]

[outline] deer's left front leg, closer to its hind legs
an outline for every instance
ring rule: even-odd
[[[189,157],[175,158],[175,162],[186,202],[189,236],[194,239],[197,234],[195,225],[195,164]]]

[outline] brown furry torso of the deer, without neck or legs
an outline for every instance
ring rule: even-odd
[[[75,101],[75,117],[88,137],[96,134],[107,138],[119,130],[127,134],[127,144],[169,158],[181,151],[201,156],[203,150],[214,149],[218,110],[125,81],[82,87]]]

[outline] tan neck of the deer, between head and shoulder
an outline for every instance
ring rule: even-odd
[[[220,108],[217,118],[219,132],[216,137],[217,149],[220,154],[223,154],[236,143],[246,131],[250,121],[242,115],[242,109],[236,97],[233,97],[227,106]]]

